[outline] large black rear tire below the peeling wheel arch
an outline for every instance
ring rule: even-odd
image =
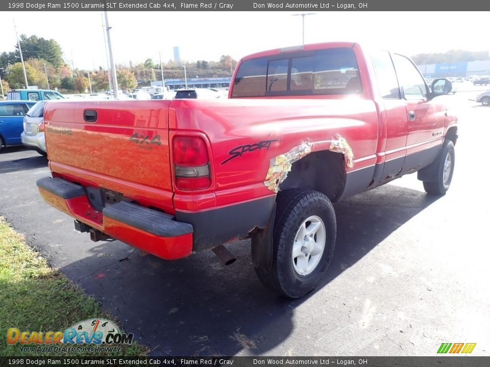
[[[300,298],[314,289],[328,269],[337,230],[335,212],[328,197],[313,190],[285,190],[277,195],[276,202],[272,267],[268,271],[258,267],[255,271],[269,290],[289,298]],[[309,218],[315,218],[320,226],[323,224],[324,230],[320,237],[325,239],[325,246],[321,255],[317,254],[317,259],[312,262],[314,264],[317,261],[311,272],[301,275],[295,270],[296,266],[299,266],[296,261],[300,256],[296,260],[292,257],[293,243],[297,234],[299,235],[300,225]],[[318,221],[318,218],[321,220]],[[305,223],[309,226],[312,222]],[[317,237],[317,233],[315,232],[313,237],[310,236],[310,239],[315,241],[314,243],[323,242]],[[314,257],[313,251],[309,250],[310,255],[307,255],[306,251],[305,249],[304,256],[309,264],[310,259]]]

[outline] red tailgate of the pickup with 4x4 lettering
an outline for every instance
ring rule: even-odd
[[[171,191],[167,100],[56,101],[44,111],[53,172]],[[117,185],[115,185],[117,182]]]

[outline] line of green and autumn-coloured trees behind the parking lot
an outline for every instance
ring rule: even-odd
[[[19,43],[29,86],[47,89],[49,83],[50,89],[82,93],[89,88],[90,78],[92,91],[109,89],[107,70],[104,70],[102,66],[98,70],[70,68],[63,60],[63,51],[56,40],[46,40],[36,35],[28,37],[22,34]],[[236,66],[236,61],[229,55],[223,55],[216,62],[206,60],[182,61],[181,65],[178,65],[174,60],[169,60],[162,63],[164,78],[184,78],[182,65],[186,66],[188,77],[220,77],[230,76],[233,67]],[[124,90],[134,90],[138,84],[149,86],[150,82],[161,80],[162,70],[160,63],[149,58],[137,64],[130,61],[129,67],[116,65],[116,72],[118,87]],[[5,93],[9,89],[25,88],[18,45],[15,45],[15,51],[0,54],[0,76]]]

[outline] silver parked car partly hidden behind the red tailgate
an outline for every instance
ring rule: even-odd
[[[23,120],[23,132],[20,135],[22,144],[39,154],[46,155],[44,139],[44,106],[47,101],[39,101],[27,112]]]

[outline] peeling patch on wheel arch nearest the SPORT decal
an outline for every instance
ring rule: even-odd
[[[277,193],[279,185],[286,179],[287,173],[291,170],[291,165],[311,153],[311,147],[312,144],[310,142],[303,142],[287,153],[272,158],[264,181],[267,189]]]

